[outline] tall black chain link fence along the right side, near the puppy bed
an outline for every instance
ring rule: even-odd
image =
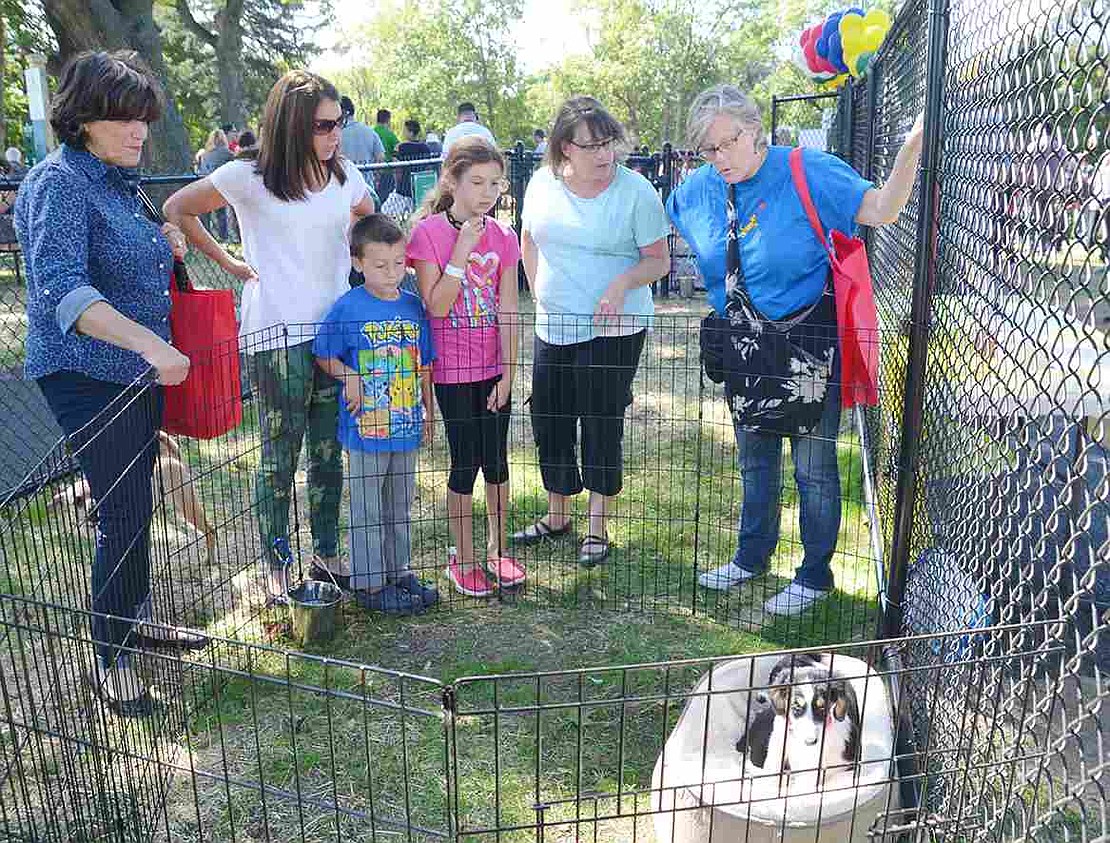
[[[867,234],[901,335],[867,428],[887,632],[965,631],[896,653],[951,665],[902,688],[939,840],[1110,833],[1108,44],[1099,2],[909,2],[831,132],[881,182],[928,118],[924,194]]]

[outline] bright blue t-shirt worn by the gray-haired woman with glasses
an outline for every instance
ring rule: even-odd
[[[753,303],[768,319],[809,307],[825,289],[828,255],[817,241],[790,177],[790,148],[770,147],[750,179],[736,185],[740,265]],[[864,194],[874,188],[847,163],[817,150],[803,153],[806,181],[826,234],[856,230]],[[667,200],[667,213],[697,255],[709,303],[725,311],[728,184],[708,164],[698,168]]]

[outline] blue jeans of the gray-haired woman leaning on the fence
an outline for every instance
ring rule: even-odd
[[[799,585],[833,588],[833,553],[840,531],[840,472],[836,440],[840,428],[840,390],[829,384],[817,430],[790,436],[794,478],[801,505],[805,555],[794,574]],[[733,563],[751,573],[767,570],[778,544],[783,512],[783,436],[736,431],[736,460],[744,483],[744,502]]]

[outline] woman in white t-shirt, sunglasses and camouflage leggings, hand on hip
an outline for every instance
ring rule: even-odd
[[[263,433],[254,506],[275,601],[287,585],[289,502],[305,433],[314,574],[346,573],[339,556],[339,382],[312,357],[316,323],[350,289],[352,217],[374,212],[362,173],[339,154],[343,122],[335,87],[292,70],[266,98],[256,152],[182,188],[164,207],[200,251],[243,281],[240,340]],[[243,260],[198,220],[229,204],[239,219]]]

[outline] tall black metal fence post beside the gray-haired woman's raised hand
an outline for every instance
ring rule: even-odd
[[[939,221],[939,167],[948,52],[948,0],[930,0],[928,53],[925,73],[925,141],[918,180],[920,211],[917,220],[917,259],[914,264],[914,299],[910,308],[909,361],[902,402],[901,449],[895,490],[890,570],[882,606],[882,636],[901,633],[902,601],[909,570],[910,543],[917,501],[917,471],[921,455],[926,364],[932,323],[932,290],[937,272]]]

